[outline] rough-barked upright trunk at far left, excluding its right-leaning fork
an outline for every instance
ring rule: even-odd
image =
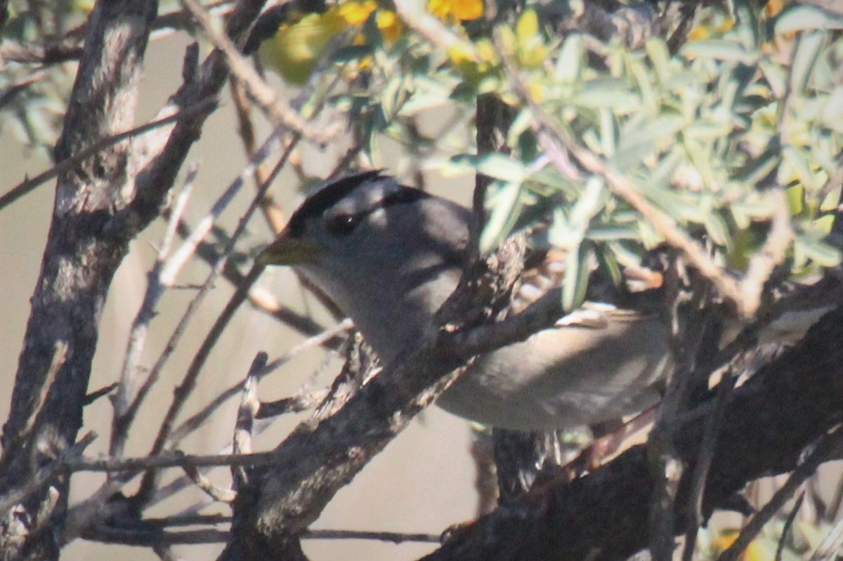
[[[99,139],[132,127],[143,54],[157,8],[154,0],[98,3],[94,8],[56,160],[72,158]],[[117,142],[58,177],[12,410],[3,429],[6,456],[0,494],[26,484],[39,464],[72,446],[82,424],[99,314],[132,234],[113,220],[115,211],[126,206],[122,187],[131,149],[130,141]],[[52,351],[62,343],[67,345],[66,360],[40,403]],[[39,409],[50,414],[30,438],[31,446],[8,447]],[[52,490],[33,495],[24,505],[34,527],[0,528],[0,542],[6,545],[3,554],[11,557],[16,550],[24,558],[56,558],[55,537],[61,533],[66,508],[67,481],[62,478]],[[6,519],[5,513],[0,516]],[[59,527],[50,532],[37,527],[48,520]]]

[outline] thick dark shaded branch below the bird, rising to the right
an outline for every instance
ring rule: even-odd
[[[843,308],[735,390],[717,436],[705,512],[728,505],[755,478],[796,468],[803,449],[843,419],[841,336]],[[691,467],[705,425],[697,416],[676,433],[679,456]],[[688,483],[679,489],[676,533],[684,527]],[[646,449],[638,446],[591,475],[481,518],[426,559],[624,559],[647,547],[652,490]]]

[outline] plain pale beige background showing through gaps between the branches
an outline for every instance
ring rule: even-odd
[[[148,71],[142,84],[141,106],[137,123],[153,117],[164,104],[167,96],[180,83],[180,65],[183,56],[184,37],[171,36],[154,40],[147,56]],[[201,141],[191,151],[189,162],[198,163],[199,175],[194,195],[187,211],[189,222],[203,216],[217,195],[232,181],[244,165],[244,156],[239,137],[236,136],[233,108],[228,93],[223,94],[222,106],[207,121]],[[258,117],[260,119],[260,117]],[[311,173],[326,174],[330,165],[340,153],[339,148],[328,149],[324,154],[308,150],[308,168]],[[319,167],[325,162],[324,168]],[[24,179],[48,168],[46,156],[21,146],[21,141],[11,131],[0,131],[0,193],[11,189]],[[470,197],[470,177],[446,182],[448,193],[459,200]],[[18,355],[24,337],[29,315],[29,299],[38,277],[41,254],[50,224],[53,190],[55,182],[42,185],[38,190],[13,206],[0,212],[0,283],[3,297],[0,298],[0,384],[3,385],[0,398],[0,418],[8,414],[9,399],[17,368]],[[295,181],[289,175],[282,176],[273,186],[273,193],[289,212],[298,204]],[[223,225],[231,231],[241,211],[248,204],[254,189],[248,185],[223,216]],[[163,224],[155,222],[140,238],[132,243],[111,286],[100,325],[99,347],[94,360],[90,390],[114,382],[119,375],[126,336],[132,318],[137,313],[146,274],[156,254],[161,239]],[[270,232],[260,216],[255,216],[250,228],[250,244],[266,243]],[[191,264],[180,282],[185,285],[201,283],[207,275],[207,266]],[[284,302],[303,309],[301,294],[294,286],[293,277],[287,271],[266,273],[261,280]],[[159,304],[160,315],[153,320],[150,339],[142,364],[151,366],[169,337],[175,322],[194,291],[169,291]],[[157,430],[157,420],[169,406],[172,390],[180,381],[185,367],[201,338],[207,333],[217,314],[222,310],[232,290],[224,280],[217,282],[212,297],[207,298],[198,317],[191,323],[189,341],[169,362],[158,389],[148,398],[142,410],[145,421],[133,431],[128,453],[133,456],[145,454]],[[266,350],[270,359],[296,345],[302,338],[290,330],[282,329],[265,315],[243,307],[228,326],[223,339],[211,355],[202,372],[200,384],[190,414],[202,403],[215,396],[223,387],[244,377],[255,352]],[[324,354],[320,350],[303,353],[282,371],[267,377],[260,385],[260,397],[272,400],[292,395],[300,384],[319,367]],[[330,382],[339,369],[340,361],[332,361],[319,382]],[[215,453],[230,439],[234,426],[236,400],[228,403],[196,437],[185,441],[183,449],[189,453]],[[107,449],[111,408],[107,399],[99,399],[85,410],[84,430],[95,430],[99,439],[88,450],[99,454]],[[184,416],[183,416],[184,418]],[[258,449],[275,446],[298,419],[283,419],[257,439]],[[372,530],[391,532],[443,532],[449,525],[470,519],[475,514],[474,467],[469,456],[470,431],[468,424],[443,411],[432,408],[400,435],[389,447],[363,470],[351,485],[343,489],[319,521],[318,528]],[[180,476],[178,470],[169,470],[169,480]],[[228,484],[228,473],[224,469],[212,472],[217,484]],[[99,474],[80,473],[72,478],[72,500],[87,496],[103,481]],[[130,487],[130,489],[132,489]],[[153,508],[150,516],[165,516],[193,504],[204,497],[196,489],[178,495],[163,505]],[[228,512],[222,506],[207,511]],[[304,542],[305,552],[318,559],[412,559],[432,550],[429,544],[401,544],[362,541],[326,542],[308,540]],[[197,548],[195,546],[176,548],[183,558],[210,558],[220,548]],[[126,548],[77,541],[65,549],[64,558],[125,558],[155,559],[151,551],[144,548]]]

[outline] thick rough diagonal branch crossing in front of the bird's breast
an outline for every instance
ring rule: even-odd
[[[252,488],[239,489],[234,503],[233,541],[223,558],[297,551],[298,537],[336,491],[453,382],[448,372],[470,361],[449,339],[508,302],[501,295],[520,273],[523,249],[511,242],[475,264],[434,319],[440,329],[429,329],[417,350],[406,350],[336,414],[316,427],[300,426],[277,448],[271,468],[250,475]]]

